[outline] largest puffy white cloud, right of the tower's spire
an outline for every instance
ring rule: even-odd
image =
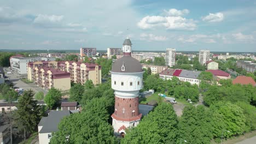
[[[181,16],[146,16],[137,23],[142,29],[150,29],[157,26],[164,26],[166,29],[191,30],[196,28],[195,21],[185,19]]]

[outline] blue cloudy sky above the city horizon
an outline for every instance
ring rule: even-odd
[[[127,30],[128,27],[128,30]],[[0,49],[256,52],[256,1],[0,0]]]

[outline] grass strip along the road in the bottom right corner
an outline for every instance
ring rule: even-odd
[[[240,136],[234,136],[234,137],[230,137],[230,139],[224,139],[222,141],[223,144],[232,144],[232,143],[237,143],[246,139],[249,139],[253,136],[256,136],[256,130],[255,131],[250,131],[244,135],[240,135]],[[211,143],[213,144],[217,144],[217,142],[215,142],[214,140],[211,141]]]

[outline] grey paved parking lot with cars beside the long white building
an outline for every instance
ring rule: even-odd
[[[20,79],[22,77],[27,78],[26,75],[19,75],[11,72],[12,74],[7,74],[8,71],[11,71],[9,68],[4,68],[5,69],[5,76],[8,77],[8,79],[13,82],[14,87],[19,87],[23,88],[24,90],[27,89],[32,89],[34,92],[43,92],[44,94],[47,93],[47,91],[43,88],[38,87],[35,83],[25,83],[22,82]]]

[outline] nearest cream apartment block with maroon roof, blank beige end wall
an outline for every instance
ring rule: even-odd
[[[55,87],[61,91],[66,91],[71,87],[70,73],[49,67],[35,67],[31,71],[31,78],[37,86],[44,89]]]

